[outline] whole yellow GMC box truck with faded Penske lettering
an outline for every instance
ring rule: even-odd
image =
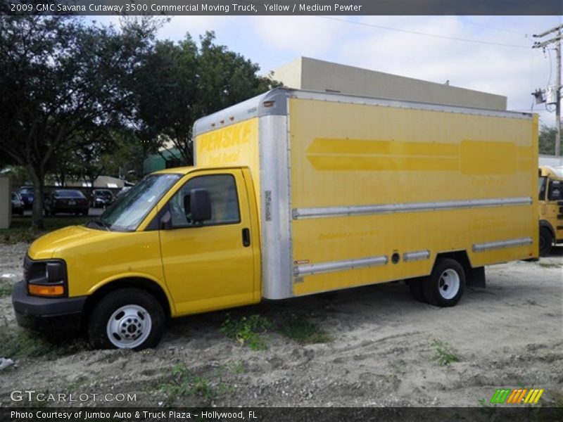
[[[538,256],[537,137],[524,113],[274,89],[198,120],[195,167],[32,243],[18,322],[139,350],[167,317],[370,283],[453,306]]]

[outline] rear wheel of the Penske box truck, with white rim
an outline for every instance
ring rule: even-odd
[[[424,298],[430,305],[450,307],[460,301],[465,289],[465,271],[456,260],[436,261],[430,276],[424,281]]]

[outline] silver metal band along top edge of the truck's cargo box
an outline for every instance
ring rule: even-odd
[[[388,98],[373,98],[366,96],[353,96],[348,94],[327,93],[322,91],[305,91],[286,87],[274,88],[270,91],[250,98],[242,103],[217,111],[201,119],[194,124],[194,137],[198,134],[210,132],[220,127],[242,122],[253,117],[265,115],[287,115],[287,99],[303,98],[320,101],[335,101],[351,104],[365,104],[372,106],[410,108],[417,110],[434,110],[450,113],[464,113],[474,115],[486,115],[491,117],[506,117],[512,119],[531,119],[531,113],[516,111],[487,110],[483,108],[469,108],[459,106],[444,106],[443,104],[421,103],[416,101],[399,101]]]

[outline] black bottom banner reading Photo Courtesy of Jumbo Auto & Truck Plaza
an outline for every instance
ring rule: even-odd
[[[230,408],[131,408],[42,407],[3,408],[0,421],[61,422],[335,422],[335,421],[562,421],[556,407],[230,407]]]

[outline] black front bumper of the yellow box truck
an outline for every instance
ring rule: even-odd
[[[61,333],[80,331],[86,296],[41,298],[27,294],[25,281],[14,286],[12,304],[20,326],[37,331]]]

